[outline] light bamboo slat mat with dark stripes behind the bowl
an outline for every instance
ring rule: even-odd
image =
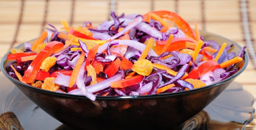
[[[1,0],[0,58],[13,46],[36,38],[46,23],[57,29],[65,19],[71,26],[91,21],[97,25],[116,14],[144,14],[151,10],[170,10],[194,27],[217,33],[241,46],[247,46],[250,61],[235,79],[256,97],[256,0]],[[254,104],[254,107],[256,104]],[[256,120],[246,130],[256,129]]]

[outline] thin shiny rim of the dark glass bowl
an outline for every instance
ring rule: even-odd
[[[232,44],[234,44],[235,46],[237,46],[238,48],[242,48],[238,43],[227,39],[223,36],[220,36],[218,34],[215,33],[211,33],[211,32],[207,32],[205,30],[200,30],[200,32],[205,33],[206,35],[210,35],[210,36],[214,36],[214,37],[219,37],[220,39],[226,40]],[[34,40],[34,39],[33,39]],[[30,41],[33,41],[30,40]],[[29,42],[29,41],[28,41]],[[16,46],[15,48],[21,48],[22,46],[24,46],[24,43],[19,44],[18,46]],[[75,95],[75,94],[67,94],[67,93],[61,93],[61,92],[54,92],[54,91],[48,91],[48,90],[43,90],[41,88],[36,88],[36,87],[32,87],[31,85],[25,84],[20,82],[18,79],[15,79],[13,77],[11,77],[9,74],[7,74],[6,70],[5,70],[5,62],[7,61],[7,54],[10,53],[10,50],[3,56],[3,58],[1,59],[0,62],[0,69],[1,72],[8,78],[10,79],[13,83],[16,82],[17,84],[21,84],[23,87],[26,87],[28,89],[32,89],[35,91],[40,91],[40,92],[44,92],[44,93],[50,93],[50,94],[54,94],[54,95],[58,95],[58,96],[65,96],[65,97],[72,97],[72,98],[87,98],[84,95]],[[242,68],[240,68],[235,74],[231,75],[230,77],[223,79],[222,81],[216,82],[214,84],[210,84],[210,85],[206,85],[204,87],[200,87],[200,88],[195,88],[192,90],[186,90],[186,91],[181,91],[181,92],[173,92],[173,93],[163,93],[163,94],[151,94],[151,95],[137,95],[137,96],[96,96],[96,100],[121,100],[121,99],[145,99],[145,98],[163,98],[163,97],[170,97],[170,96],[174,96],[174,95],[181,95],[181,94],[187,94],[190,92],[194,92],[194,91],[203,91],[205,89],[209,89],[212,87],[216,87],[219,84],[223,84],[226,81],[229,81],[235,77],[237,77],[238,75],[240,75],[247,67],[248,63],[249,63],[249,54],[247,53],[247,51],[244,51],[244,65]],[[16,86],[17,87],[17,86]],[[89,98],[87,98],[89,100]]]

